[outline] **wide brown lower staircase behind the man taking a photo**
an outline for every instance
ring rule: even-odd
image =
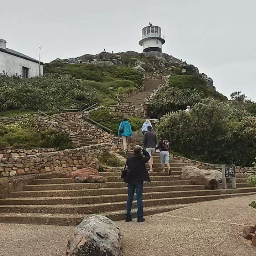
[[[188,164],[170,160],[171,175],[168,176],[160,172],[158,153],[153,155],[153,161],[152,182],[144,183],[143,188],[145,215],[185,207],[189,203],[256,193],[256,188],[246,183],[246,176],[237,177],[236,189],[206,190],[203,185],[180,180],[182,166]],[[108,182],[78,184],[70,178],[35,179],[33,184],[23,186],[23,191],[12,192],[11,198],[0,200],[0,222],[73,226],[80,223],[85,214],[92,213],[122,220],[125,218],[126,183],[120,178],[120,172],[101,174]],[[132,213],[136,216],[136,209]]]

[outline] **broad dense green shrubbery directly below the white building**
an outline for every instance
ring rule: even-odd
[[[22,79],[0,74],[0,110],[56,111],[84,108],[98,101],[98,95],[88,90],[70,75],[49,74]]]

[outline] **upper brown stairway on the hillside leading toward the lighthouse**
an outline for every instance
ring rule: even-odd
[[[131,105],[135,106],[136,110],[142,109],[142,104],[147,98],[147,96],[150,96],[153,90],[155,90],[159,85],[164,84],[165,81],[163,79],[148,79],[145,80],[144,85],[144,91],[138,92],[133,95],[131,95],[128,98],[123,99],[123,102],[131,102]]]

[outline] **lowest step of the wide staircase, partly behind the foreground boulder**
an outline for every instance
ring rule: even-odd
[[[186,207],[183,205],[168,205],[144,207],[144,216],[172,211]],[[136,218],[137,209],[132,209],[131,214]],[[125,210],[105,211],[101,215],[108,217],[113,221],[125,219]],[[84,214],[44,214],[44,213],[0,213],[0,223],[20,223],[20,224],[36,224],[36,225],[61,225],[76,226],[84,219]]]

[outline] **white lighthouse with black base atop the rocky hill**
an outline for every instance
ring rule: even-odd
[[[165,40],[161,36],[161,27],[153,26],[150,22],[149,26],[142,28],[142,39],[139,45],[142,46],[143,52],[162,52],[164,43]]]

